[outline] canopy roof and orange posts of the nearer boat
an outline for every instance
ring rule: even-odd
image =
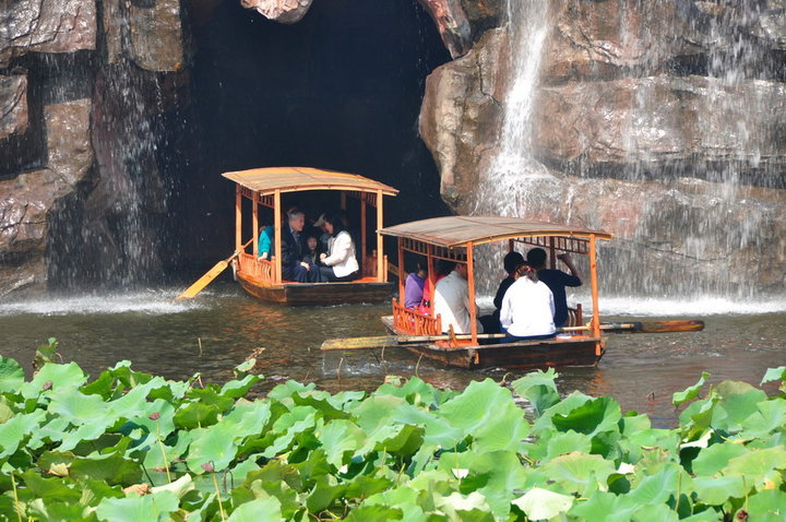
[[[570,252],[590,258],[590,281],[593,317],[590,334],[598,339],[596,355],[603,351],[600,316],[598,312],[597,240],[609,240],[611,234],[603,230],[557,225],[535,220],[502,216],[445,216],[404,223],[378,230],[382,236],[397,238],[398,295],[404,295],[404,252],[425,256],[428,262],[428,284],[433,285],[434,259],[467,264],[469,302],[475,302],[474,248],[478,245],[508,241],[512,251],[516,244],[540,247],[549,252],[550,266],[556,268],[557,252]],[[477,311],[469,310],[473,344],[478,344]]]

